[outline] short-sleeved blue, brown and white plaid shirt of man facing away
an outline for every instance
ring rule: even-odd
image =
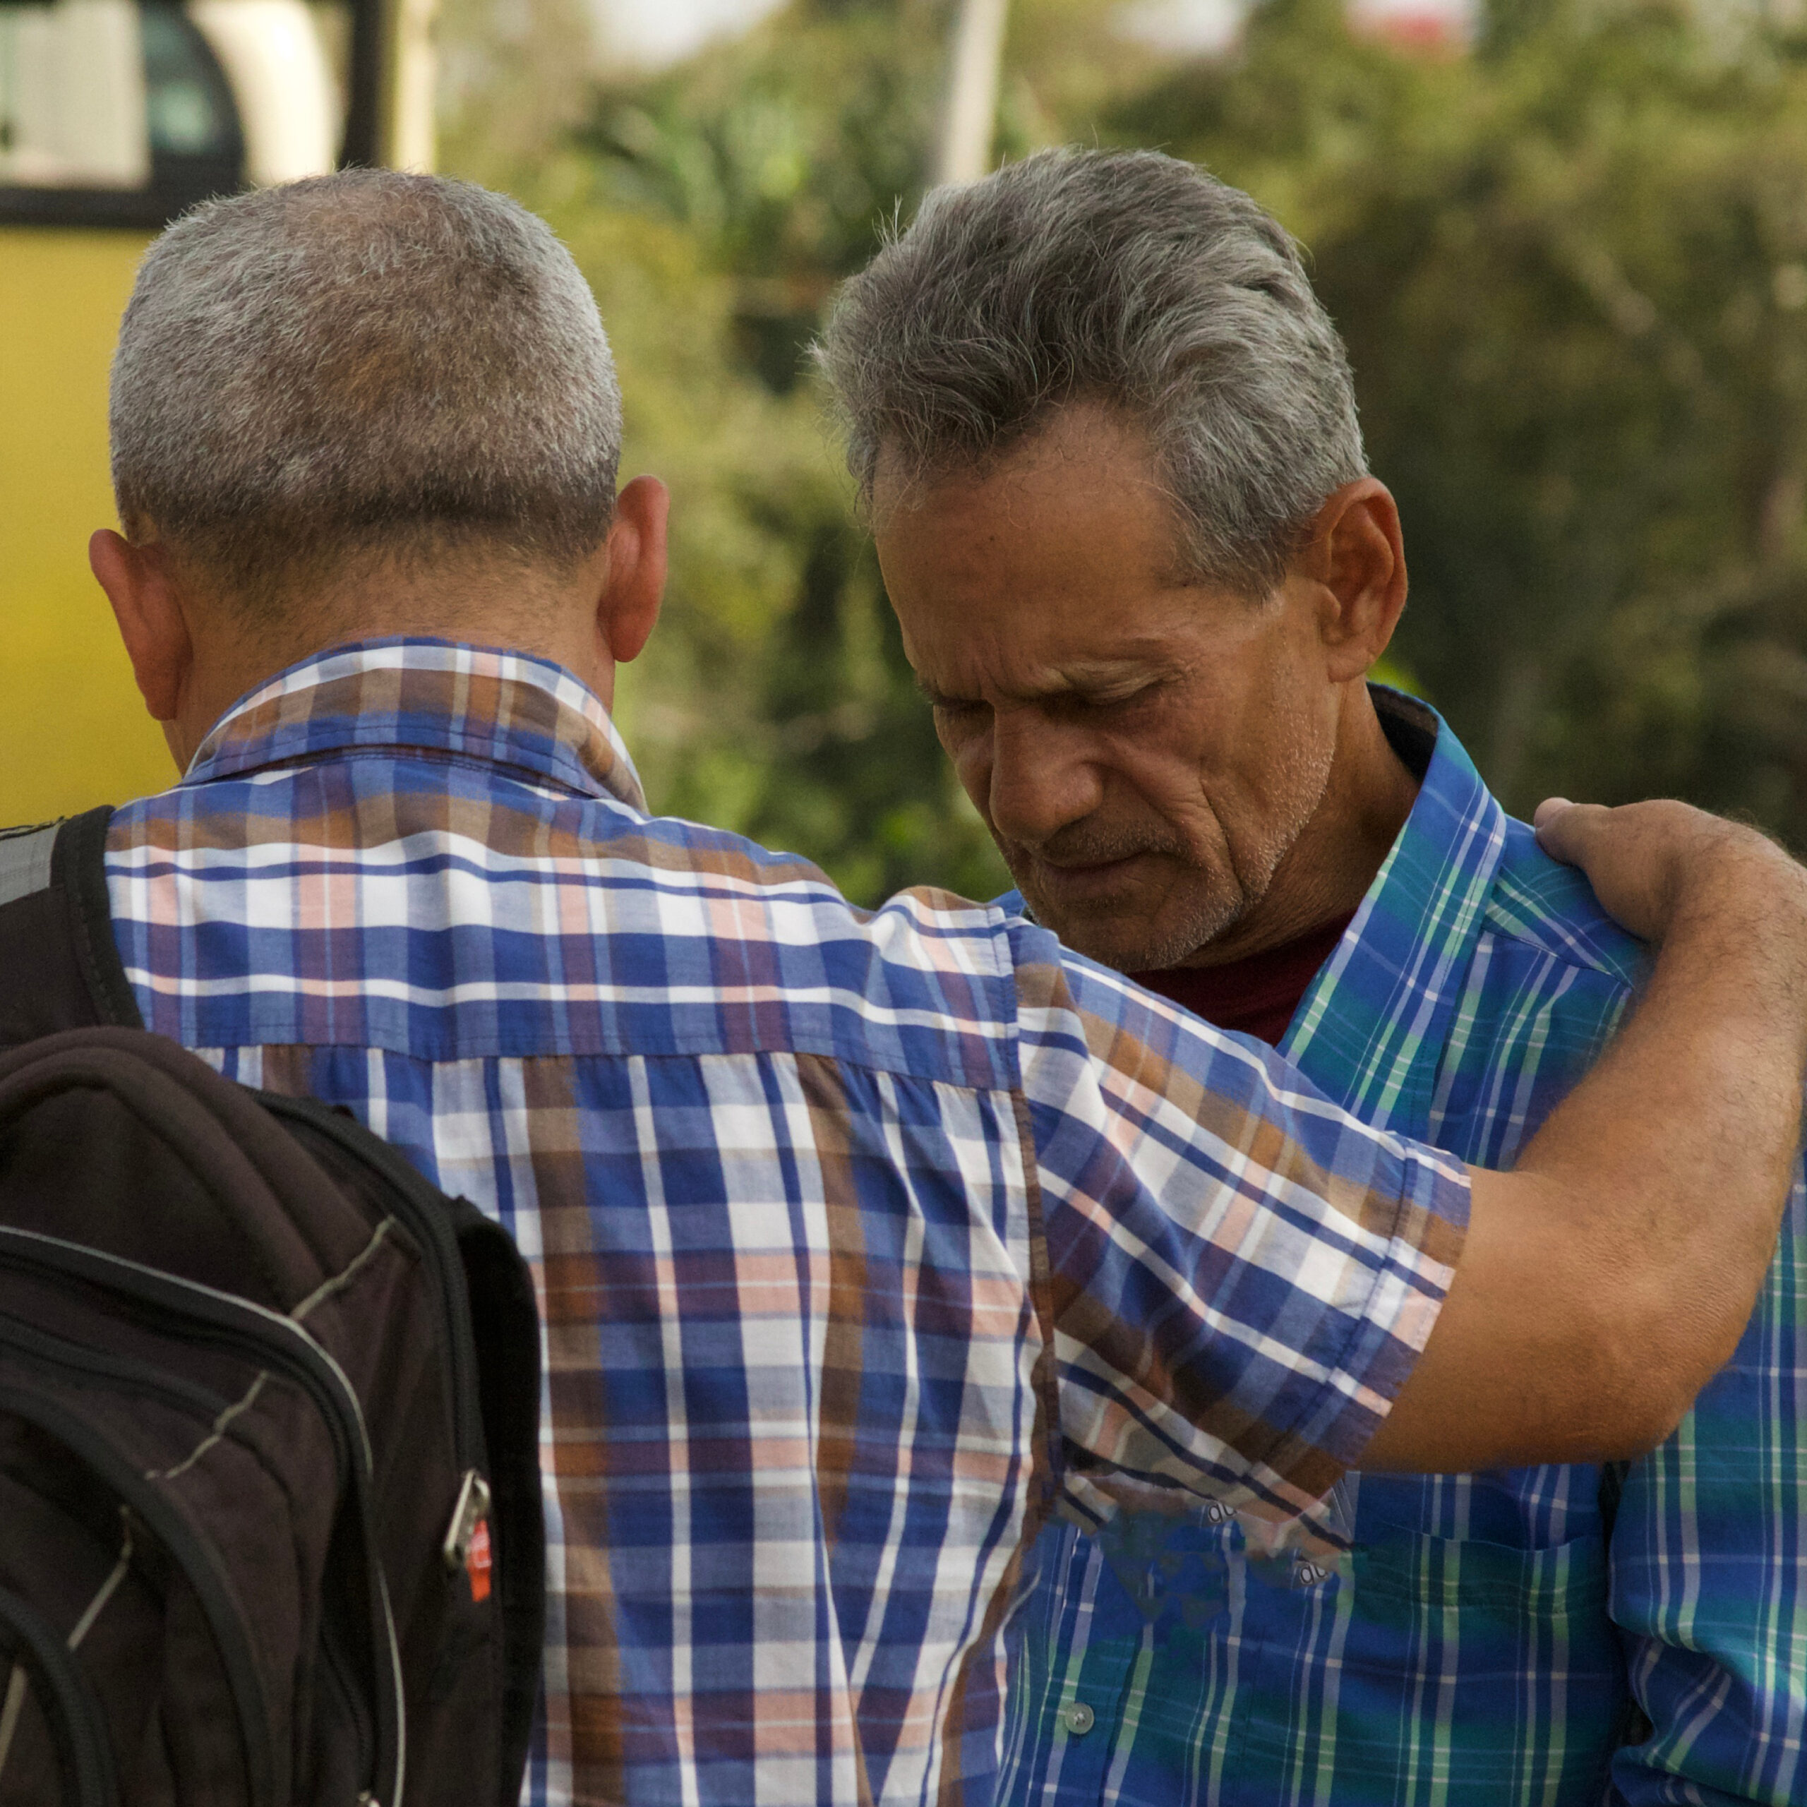
[[[107,860],[152,1028],[533,1263],[531,1802],[992,1800],[1064,1469],[1312,1507],[1460,1245],[1456,1162],[1034,925],[649,819],[535,660],[305,661]]]

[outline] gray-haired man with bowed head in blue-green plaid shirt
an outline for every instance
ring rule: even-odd
[[[1511,1164],[1643,950],[1366,683],[1399,513],[1287,233],[1171,157],[1032,157],[932,195],[824,363],[1008,902],[1364,1120]],[[1737,1357],[1630,1469],[1362,1473],[1352,1554],[1287,1568],[1212,1502],[1070,1485],[1095,1534],[1037,1545],[1006,1800],[1807,1798],[1803,1238],[1796,1189]]]

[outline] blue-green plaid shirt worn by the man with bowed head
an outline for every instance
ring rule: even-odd
[[[1637,949],[1437,732],[1411,819],[1281,1043],[1339,1104],[1509,1166]],[[1276,1565],[1218,1507],[1046,1531],[1012,1644],[1014,1807],[1784,1807],[1807,1800],[1796,1185],[1733,1364],[1615,1467],[1352,1475],[1353,1550]]]

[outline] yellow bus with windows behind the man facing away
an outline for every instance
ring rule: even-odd
[[[87,540],[150,237],[342,163],[432,163],[432,0],[0,0],[0,826],[161,790]]]

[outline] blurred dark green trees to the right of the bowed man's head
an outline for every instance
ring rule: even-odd
[[[1402,58],[1328,0],[1106,132],[1312,248],[1406,519],[1399,647],[1523,810],[1679,791],[1807,842],[1807,65],[1509,0]]]

